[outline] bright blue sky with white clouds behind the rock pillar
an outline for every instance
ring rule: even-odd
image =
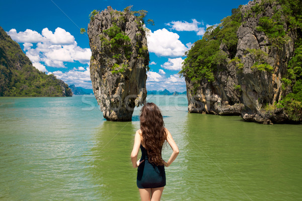
[[[150,71],[147,90],[185,91],[179,77],[184,52],[202,38],[207,26],[215,25],[233,8],[247,4],[236,1],[0,1],[0,26],[17,41],[33,65],[54,74],[67,84],[92,88],[89,74],[89,39],[80,28],[89,24],[93,10],[111,6],[122,11],[146,10],[155,25],[147,41]]]

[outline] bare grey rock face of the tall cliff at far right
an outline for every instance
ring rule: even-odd
[[[236,56],[242,60],[244,67],[241,73],[238,73],[238,81],[242,89],[242,102],[248,108],[243,111],[243,118],[248,121],[256,122],[285,122],[288,121],[283,111],[275,111],[275,114],[268,115],[262,111],[265,105],[273,105],[281,100],[288,91],[282,90],[282,78],[285,77],[289,60],[294,55],[294,42],[297,39],[295,32],[288,32],[288,24],[283,24],[284,32],[288,32],[286,42],[281,45],[273,45],[264,32],[258,31],[259,19],[263,17],[272,18],[275,9],[281,10],[280,5],[267,4],[265,10],[256,17],[249,17],[247,13],[255,7],[258,2],[250,2],[243,6],[242,16],[243,24],[238,30],[238,46]],[[274,8],[275,7],[275,8]],[[245,17],[246,16],[246,17]],[[280,16],[281,19],[285,17]],[[263,53],[262,59],[273,68],[267,70],[253,70],[252,66],[258,62],[257,55],[249,53],[246,50],[256,49]]]

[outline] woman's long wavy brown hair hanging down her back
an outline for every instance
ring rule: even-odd
[[[160,109],[154,103],[146,103],[140,111],[140,130],[148,160],[155,165],[164,165],[162,149],[167,133]]]

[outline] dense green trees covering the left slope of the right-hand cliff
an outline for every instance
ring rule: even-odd
[[[227,55],[219,50],[221,43],[230,52],[231,59],[235,57],[237,49],[237,30],[241,25],[240,7],[232,10],[232,16],[221,20],[217,26],[208,27],[202,39],[196,41],[189,52],[180,73],[191,79],[195,85],[201,80],[214,81],[214,73],[219,65],[226,63]]]

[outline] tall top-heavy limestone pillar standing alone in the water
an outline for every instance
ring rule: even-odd
[[[109,121],[131,121],[146,98],[149,53],[143,23],[133,12],[108,7],[93,12],[88,25],[94,94]]]

